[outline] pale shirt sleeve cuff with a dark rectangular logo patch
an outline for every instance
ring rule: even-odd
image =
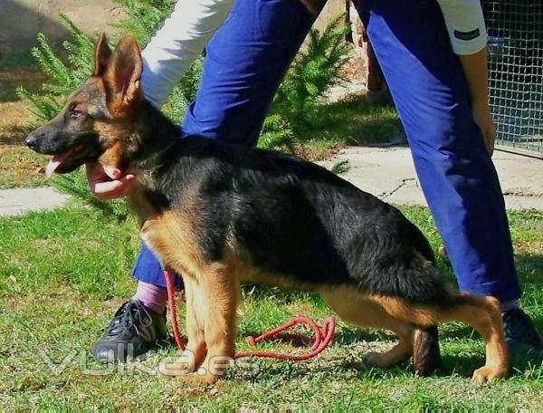
[[[480,0],[437,0],[456,54],[474,54],[487,44]]]

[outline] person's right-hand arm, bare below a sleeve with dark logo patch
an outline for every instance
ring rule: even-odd
[[[488,93],[487,34],[479,0],[437,0],[451,38],[452,50],[459,56],[468,84],[472,115],[481,129],[490,154],[496,130],[492,122]]]

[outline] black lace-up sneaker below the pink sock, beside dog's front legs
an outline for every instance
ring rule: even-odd
[[[101,362],[135,359],[167,340],[166,312],[157,314],[139,300],[122,304],[91,354]]]

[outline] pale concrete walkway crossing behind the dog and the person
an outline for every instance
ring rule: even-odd
[[[509,209],[543,210],[543,160],[496,151],[494,163]],[[352,147],[320,162],[330,168],[348,160],[350,169],[342,177],[357,187],[393,204],[426,205],[414,174],[411,152],[405,147]],[[62,206],[68,197],[51,187],[0,190],[0,216]]]

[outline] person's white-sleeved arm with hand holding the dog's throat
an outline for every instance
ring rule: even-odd
[[[223,24],[233,0],[179,0],[174,11],[141,53],[143,93],[160,108],[181,76],[188,70]],[[87,164],[87,178],[94,197],[101,200],[124,197],[133,175],[110,166]]]

